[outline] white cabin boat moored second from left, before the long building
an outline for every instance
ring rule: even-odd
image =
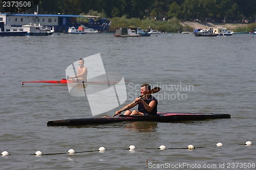
[[[33,36],[47,36],[50,34],[49,30],[41,26],[40,23],[36,25],[35,23],[30,23],[29,25],[22,26],[25,31],[27,31],[27,35],[33,35]]]

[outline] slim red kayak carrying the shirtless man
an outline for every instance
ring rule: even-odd
[[[27,82],[21,82],[22,86],[42,86],[42,85],[67,85],[67,84],[89,84],[89,83],[118,83],[118,81],[94,81],[94,82],[84,82],[84,81],[71,81],[67,79],[62,80],[38,80],[38,81],[27,81]]]

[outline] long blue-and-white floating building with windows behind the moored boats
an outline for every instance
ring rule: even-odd
[[[54,27],[55,32],[68,32],[69,27],[78,27],[82,24],[84,27],[98,30],[99,32],[108,31],[111,25],[110,20],[99,16],[91,15],[48,15],[48,14],[10,14],[0,13],[0,20],[6,25],[13,27],[22,27],[35,23],[46,27]],[[81,22],[80,20],[88,20]]]

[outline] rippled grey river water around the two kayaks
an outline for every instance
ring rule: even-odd
[[[255,169],[252,35],[116,38],[111,33],[56,33],[0,37],[0,43],[0,151],[10,154],[0,157],[1,169]],[[118,72],[128,81],[126,102],[104,115],[132,102],[138,86],[147,82],[162,88],[155,94],[158,111],[231,118],[47,127],[48,120],[91,117],[88,99],[70,95],[67,86],[22,87],[20,82],[60,80],[70,64],[98,53],[107,72]],[[103,105],[99,98],[98,107]],[[253,143],[250,147],[242,145],[247,140]],[[223,147],[216,147],[218,142]],[[185,149],[188,144],[196,150]],[[135,145],[134,152],[127,150],[130,145]],[[160,145],[168,149],[160,151]],[[99,153],[99,147],[106,151]],[[77,153],[66,154],[69,149]],[[37,157],[36,151],[44,155]]]

